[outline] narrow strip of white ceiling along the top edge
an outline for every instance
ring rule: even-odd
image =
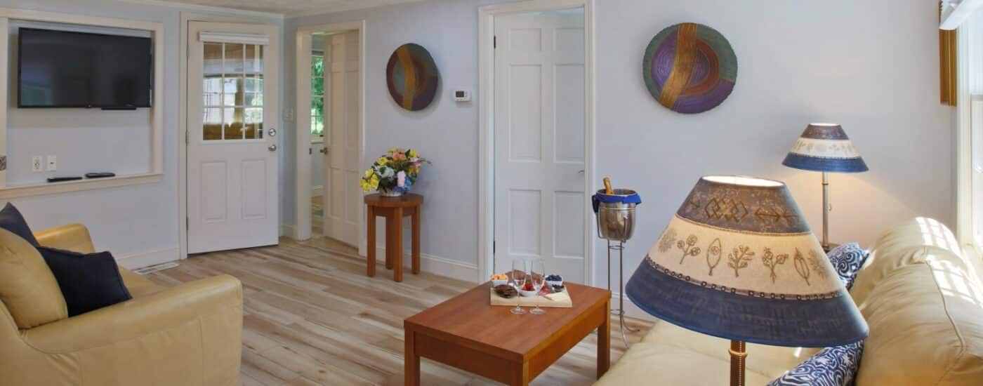
[[[269,12],[287,16],[326,14],[420,0],[165,0],[205,7]]]

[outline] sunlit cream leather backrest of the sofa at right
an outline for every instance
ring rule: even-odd
[[[953,243],[915,219],[875,246],[851,294],[870,326],[858,385],[980,384],[983,287]]]

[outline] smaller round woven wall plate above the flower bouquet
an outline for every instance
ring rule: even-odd
[[[403,44],[389,56],[385,83],[389,95],[400,107],[417,111],[434,101],[437,86],[434,58],[419,44]]]

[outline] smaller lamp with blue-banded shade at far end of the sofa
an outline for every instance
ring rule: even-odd
[[[830,250],[830,179],[828,172],[860,173],[867,164],[860,158],[850,138],[837,124],[810,124],[802,132],[782,165],[823,172],[823,250]]]

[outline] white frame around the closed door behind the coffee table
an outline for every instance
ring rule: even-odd
[[[488,280],[494,264],[494,17],[505,14],[584,9],[585,41],[585,187],[584,207],[591,207],[594,192],[594,0],[529,0],[484,6],[478,9],[479,180],[478,180],[478,282]],[[594,211],[584,211],[584,272],[594,284]]]

